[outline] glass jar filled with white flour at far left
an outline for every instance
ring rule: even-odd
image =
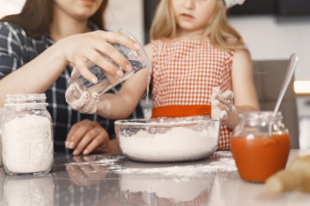
[[[6,95],[3,165],[10,175],[47,173],[53,163],[52,117],[45,94]]]

